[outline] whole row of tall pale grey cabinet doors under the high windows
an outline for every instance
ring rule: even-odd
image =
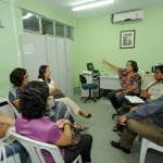
[[[29,79],[37,79],[40,65],[49,65],[52,79],[67,97],[73,95],[72,53],[72,40],[38,34],[22,36],[23,66]]]

